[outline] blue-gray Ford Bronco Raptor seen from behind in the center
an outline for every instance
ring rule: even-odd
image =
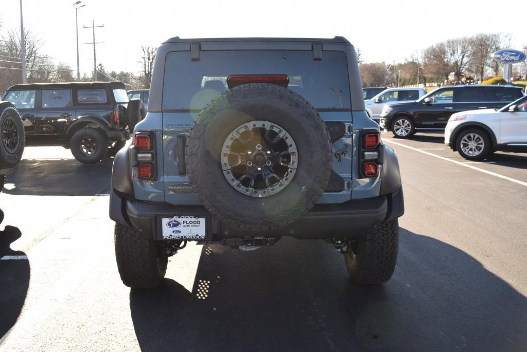
[[[110,217],[121,279],[161,284],[186,246],[325,239],[356,283],[397,260],[397,157],[366,114],[345,38],[168,39],[147,116],[115,156]]]

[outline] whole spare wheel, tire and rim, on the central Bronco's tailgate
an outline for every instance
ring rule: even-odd
[[[244,229],[286,226],[328,185],[331,143],[317,110],[292,90],[240,85],[203,108],[186,148],[187,174],[209,212]]]

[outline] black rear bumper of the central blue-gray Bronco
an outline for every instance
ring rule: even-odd
[[[129,200],[110,194],[110,218],[143,230],[150,239],[160,239],[161,218],[200,216],[207,218],[207,239],[220,242],[227,238],[291,236],[297,239],[360,238],[376,224],[404,214],[403,190],[343,204],[315,205],[295,223],[275,230],[243,230],[213,217],[203,206],[174,206]]]

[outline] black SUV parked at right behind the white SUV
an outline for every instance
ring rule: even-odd
[[[380,114],[380,128],[396,138],[408,138],[417,130],[444,130],[448,118],[458,112],[498,109],[523,96],[522,89],[502,85],[458,85],[437,88],[415,102],[387,104]]]

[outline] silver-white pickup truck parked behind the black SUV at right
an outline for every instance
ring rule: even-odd
[[[415,101],[426,94],[425,88],[388,88],[371,99],[364,100],[368,116],[379,122],[380,113],[386,104],[393,102]]]

